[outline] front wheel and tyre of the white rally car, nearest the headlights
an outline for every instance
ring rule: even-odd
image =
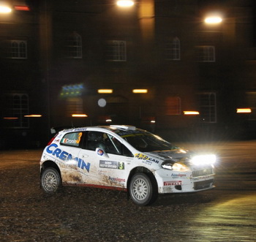
[[[145,173],[135,173],[129,184],[132,201],[138,205],[149,205],[157,200],[157,187]]]

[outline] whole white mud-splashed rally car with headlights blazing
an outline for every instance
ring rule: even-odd
[[[135,126],[65,129],[45,147],[41,186],[94,186],[129,192],[148,205],[158,194],[198,192],[214,187],[212,154],[195,155]]]

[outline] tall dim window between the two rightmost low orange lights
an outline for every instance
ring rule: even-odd
[[[217,122],[216,94],[199,94],[200,118],[204,123]]]

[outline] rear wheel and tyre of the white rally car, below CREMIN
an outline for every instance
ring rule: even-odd
[[[41,175],[42,189],[48,193],[53,194],[61,186],[61,176],[59,172],[53,167],[46,168]]]

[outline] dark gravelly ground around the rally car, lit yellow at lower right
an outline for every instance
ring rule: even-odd
[[[0,241],[256,241],[256,141],[179,145],[219,156],[217,188],[140,207],[124,192],[39,189],[41,151],[1,151]]]

